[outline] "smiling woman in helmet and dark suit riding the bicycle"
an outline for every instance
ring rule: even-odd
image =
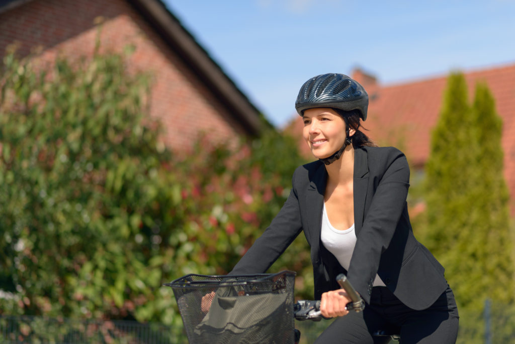
[[[296,109],[318,161],[297,168],[279,214],[230,274],[265,272],[304,231],[315,299],[324,317],[339,317],[317,342],[388,342],[371,333],[390,330],[403,343],[453,343],[453,293],[443,267],[411,230],[406,157],[376,147],[359,130],[367,107],[366,91],[347,75],[323,74],[304,83]],[[365,300],[364,312],[345,309],[350,299],[335,282],[339,273]]]

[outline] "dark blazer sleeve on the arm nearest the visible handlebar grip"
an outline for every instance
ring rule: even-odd
[[[379,162],[374,169],[379,168],[384,173],[381,175],[371,171],[370,183],[374,183],[375,191],[370,207],[366,210],[361,231],[357,235],[347,274],[349,281],[367,303],[370,301],[372,283],[379,269],[381,254],[388,248],[396,231],[406,206],[409,188],[409,166],[404,154],[392,150],[383,161],[369,162],[372,166]]]

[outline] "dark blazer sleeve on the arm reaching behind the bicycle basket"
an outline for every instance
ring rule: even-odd
[[[295,173],[292,184],[295,185]],[[298,195],[291,189],[288,199],[261,237],[238,261],[230,275],[264,273],[302,231]]]

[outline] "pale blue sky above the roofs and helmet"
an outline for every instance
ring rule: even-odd
[[[515,1],[163,0],[277,126],[308,78],[382,84],[515,63]]]

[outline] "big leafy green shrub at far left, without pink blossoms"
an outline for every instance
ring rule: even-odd
[[[0,264],[17,301],[3,312],[145,319],[134,303],[161,282],[155,203],[174,201],[169,154],[143,123],[149,78],[117,55],[48,75],[8,55],[3,69]]]

